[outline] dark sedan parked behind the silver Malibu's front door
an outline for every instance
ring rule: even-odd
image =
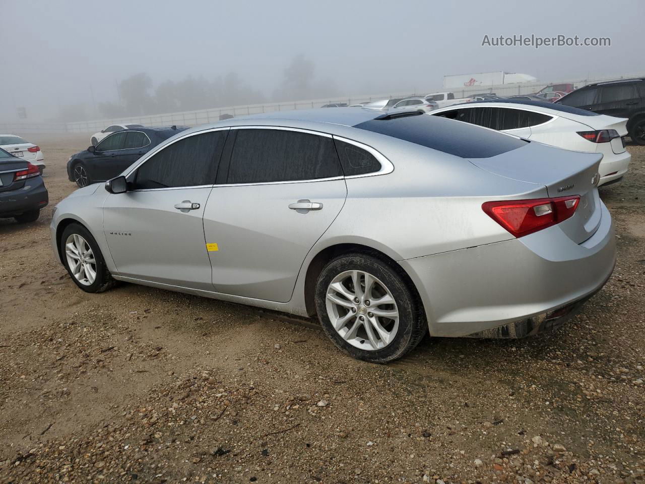
[[[98,145],[70,156],[67,176],[79,187],[109,180],[162,141],[186,129],[188,126],[135,128],[110,134]]]

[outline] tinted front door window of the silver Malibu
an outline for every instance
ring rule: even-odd
[[[196,134],[166,146],[139,167],[136,188],[212,185],[226,133]]]

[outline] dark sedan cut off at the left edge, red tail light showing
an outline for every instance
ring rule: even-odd
[[[33,222],[48,203],[38,167],[0,148],[0,218]]]

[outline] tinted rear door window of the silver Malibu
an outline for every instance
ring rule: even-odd
[[[237,130],[228,183],[335,176],[342,176],[342,170],[331,137],[288,130]]]

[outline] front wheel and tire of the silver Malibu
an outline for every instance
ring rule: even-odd
[[[85,292],[103,292],[115,285],[99,245],[83,225],[65,227],[59,244],[64,266],[78,287]]]

